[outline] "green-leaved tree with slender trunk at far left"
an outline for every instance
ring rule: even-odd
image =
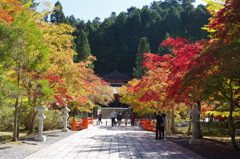
[[[12,98],[15,100],[13,104],[15,108],[13,141],[16,141],[19,110],[23,106],[23,99],[27,99],[29,109],[34,110],[41,98],[38,98],[33,104],[31,95],[34,91],[42,93],[41,88],[44,87],[37,79],[32,78],[31,74],[43,73],[49,60],[47,46],[43,42],[35,21],[31,18],[31,13],[24,10],[15,15],[14,21],[7,27],[8,32],[5,34],[4,45],[1,46],[1,63],[2,69],[9,72],[6,74],[6,79],[12,83],[11,85],[15,85],[16,90]],[[6,52],[8,54],[5,54]],[[35,89],[36,87],[38,90]],[[42,94],[42,96],[44,95]]]

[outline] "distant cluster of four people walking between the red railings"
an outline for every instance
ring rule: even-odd
[[[124,123],[125,126],[128,125],[128,120],[130,119],[131,121],[131,126],[134,126],[135,123],[135,117],[134,114],[130,115],[128,114],[128,112],[125,113],[125,115],[122,115],[122,111],[118,112],[118,114],[116,114],[115,110],[112,110],[112,112],[110,113],[110,118],[112,121],[112,126],[116,125],[116,119],[117,119],[117,124],[118,126],[120,126],[122,124],[122,119],[124,118]]]

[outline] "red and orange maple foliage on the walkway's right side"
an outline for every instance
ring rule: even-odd
[[[132,98],[140,102],[136,109],[155,110],[198,103],[203,113],[215,108],[207,106],[210,101],[225,103],[233,147],[239,149],[233,118],[233,113],[239,111],[240,98],[239,5],[239,0],[226,0],[213,14],[208,25],[211,39],[190,43],[187,39],[168,38],[160,46],[171,48],[171,54],[145,53],[143,67],[148,71],[137,82],[129,82],[122,92],[123,101],[131,103]]]

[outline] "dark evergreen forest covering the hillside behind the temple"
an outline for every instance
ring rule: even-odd
[[[149,45],[145,51],[161,55],[166,49],[159,44],[168,37],[195,42],[208,35],[201,28],[208,23],[210,14],[204,5],[195,8],[188,0],[155,1],[141,9],[130,7],[119,15],[112,12],[103,21],[98,17],[87,22],[73,15],[65,17],[63,8],[59,1],[56,2],[53,13],[46,19],[67,23],[76,29],[72,33],[76,37],[73,49],[78,53],[75,61],[95,56],[94,71],[99,75],[117,68],[130,77],[137,77],[133,72],[138,67],[136,56],[142,38],[146,39],[144,45]],[[145,52],[140,56],[142,53]]]

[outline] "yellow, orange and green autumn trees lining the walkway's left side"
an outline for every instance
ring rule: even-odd
[[[19,115],[28,119],[24,126],[32,133],[35,108],[42,102],[89,112],[112,100],[109,84],[88,67],[95,57],[73,62],[74,28],[45,22],[45,14],[30,6],[31,1],[0,1],[0,95],[7,99],[1,107],[14,108],[14,141]]]

